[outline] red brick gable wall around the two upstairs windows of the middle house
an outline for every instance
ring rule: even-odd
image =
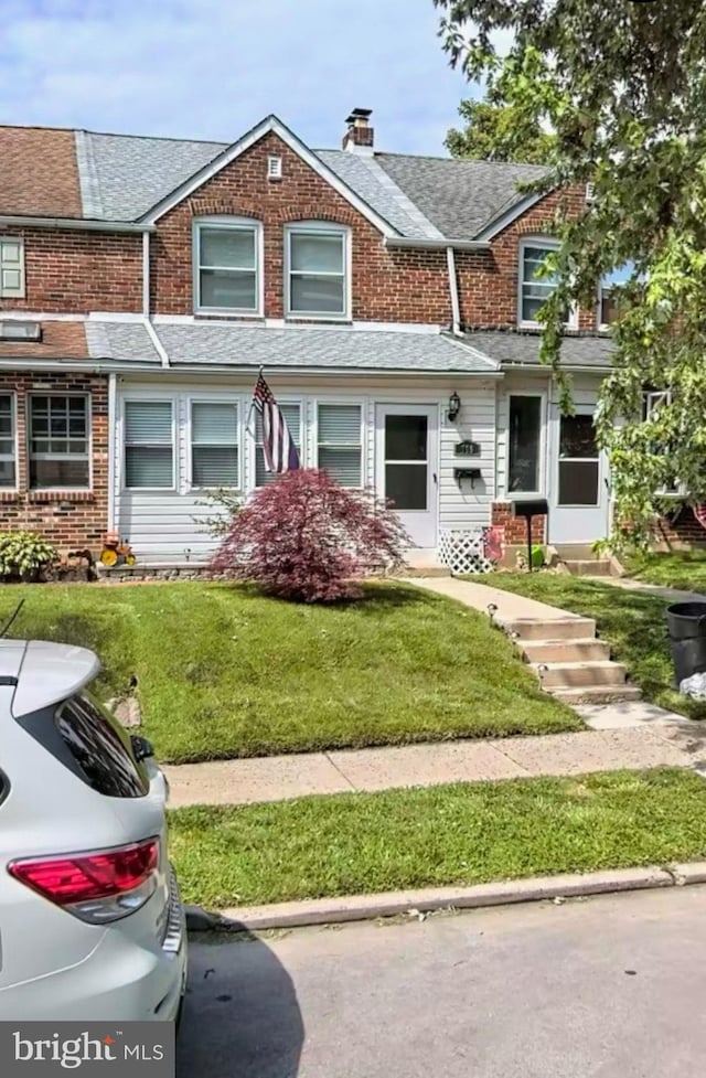
[[[266,178],[269,154],[282,158],[281,180]],[[211,214],[263,222],[267,318],[284,317],[285,224],[313,220],[351,228],[354,319],[450,324],[445,252],[386,249],[381,233],[275,135],[261,139],[158,222],[151,243],[156,311],[193,311],[193,218]]]

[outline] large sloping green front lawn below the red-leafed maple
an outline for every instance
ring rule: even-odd
[[[227,585],[38,585],[15,637],[87,644],[105,698],[138,677],[163,760],[580,729],[488,618],[409,585],[296,606]]]

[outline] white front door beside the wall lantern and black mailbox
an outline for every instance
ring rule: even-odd
[[[378,404],[376,488],[413,546],[437,545],[437,418],[431,405]]]

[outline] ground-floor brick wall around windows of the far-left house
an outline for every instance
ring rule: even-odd
[[[108,387],[105,377],[84,374],[0,374],[0,393],[17,394],[18,491],[0,491],[0,530],[29,529],[61,552],[100,552],[108,526]],[[30,491],[26,456],[26,397],[39,393],[89,393],[92,399],[93,489]]]

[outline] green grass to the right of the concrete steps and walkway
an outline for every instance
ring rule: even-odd
[[[496,573],[495,587],[595,618],[613,658],[624,663],[644,698],[691,718],[706,718],[706,703],[673,687],[674,669],[665,611],[670,600],[645,591],[553,573]]]

